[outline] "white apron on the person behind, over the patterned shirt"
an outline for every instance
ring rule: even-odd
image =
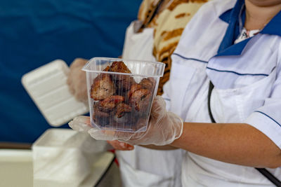
[[[152,28],[134,32],[138,21],[126,30],[122,58],[155,61],[152,55]],[[183,151],[157,151],[135,146],[133,151],[116,151],[123,186],[181,186],[181,163]]]

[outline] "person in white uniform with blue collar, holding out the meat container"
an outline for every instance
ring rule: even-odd
[[[184,149],[183,186],[280,186],[280,10],[280,0],[205,4],[172,55],[148,130],[89,134]]]

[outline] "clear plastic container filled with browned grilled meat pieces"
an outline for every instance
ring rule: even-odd
[[[143,132],[165,64],[95,57],[84,66],[91,125],[103,130]]]

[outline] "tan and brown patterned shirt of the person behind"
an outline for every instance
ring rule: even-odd
[[[160,78],[157,95],[162,95],[163,85],[169,80],[171,54],[174,52],[185,25],[197,10],[208,0],[172,0],[164,2],[162,8],[147,27],[155,29],[153,55],[166,64],[164,76]],[[148,22],[159,0],[143,0],[138,20]]]

